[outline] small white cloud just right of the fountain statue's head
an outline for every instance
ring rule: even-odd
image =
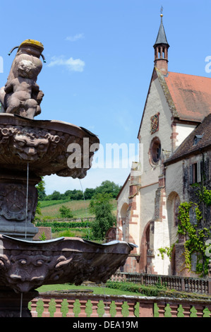
[[[50,61],[48,66],[65,66],[70,71],[83,71],[85,62],[80,59],[73,59],[72,57],[70,57],[69,59],[64,59],[63,56],[60,56],[52,57],[52,60]]]

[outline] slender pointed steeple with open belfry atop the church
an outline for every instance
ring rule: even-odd
[[[157,39],[154,45],[155,49],[155,67],[167,75],[168,73],[168,49],[169,44],[167,42],[167,36],[164,30],[164,25],[162,23],[163,14],[160,14],[161,21],[159,25],[159,31],[157,34]]]

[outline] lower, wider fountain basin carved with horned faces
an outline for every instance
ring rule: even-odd
[[[76,237],[37,242],[0,235],[0,287],[25,293],[41,285],[105,283],[134,247],[127,242],[97,244]]]

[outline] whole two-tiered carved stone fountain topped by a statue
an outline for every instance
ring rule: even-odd
[[[44,96],[36,83],[44,47],[25,40],[15,48],[8,80],[0,90],[1,317],[30,316],[28,302],[41,285],[106,282],[135,247],[71,237],[33,240],[37,233],[35,185],[50,174],[85,177],[100,141],[82,127],[34,119]]]

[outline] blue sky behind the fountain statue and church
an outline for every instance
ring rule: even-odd
[[[47,194],[95,188],[104,180],[125,182],[131,160],[138,160],[138,129],[161,6],[169,71],[211,78],[210,1],[1,1],[0,85],[6,83],[16,55],[8,56],[11,48],[26,39],[42,42],[47,63],[37,78],[44,98],[36,119],[83,126],[100,138],[87,176],[44,177]],[[127,162],[102,166],[99,160],[109,158],[107,149],[113,144],[128,148]]]

